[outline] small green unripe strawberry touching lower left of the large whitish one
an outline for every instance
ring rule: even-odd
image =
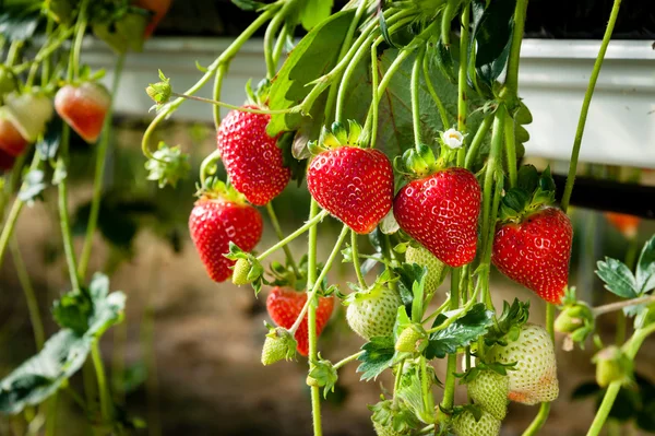
[[[500,421],[508,413],[509,391],[509,377],[491,369],[480,370],[468,384],[468,394],[473,401]]]

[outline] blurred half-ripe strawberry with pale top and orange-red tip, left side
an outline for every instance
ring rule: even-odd
[[[111,96],[105,86],[94,82],[66,85],[55,96],[57,114],[88,143],[100,135],[110,105]]]

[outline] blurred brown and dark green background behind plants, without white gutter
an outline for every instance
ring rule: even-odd
[[[655,9],[652,2],[627,0],[624,3],[617,37],[653,37]],[[528,36],[596,38],[603,32],[610,5],[610,1],[534,0],[528,11]],[[252,16],[225,0],[176,1],[158,32],[170,37],[230,37],[247,26]],[[156,64],[150,66],[153,79],[156,68]],[[175,71],[168,73],[175,78]],[[187,103],[192,104],[195,103]],[[128,118],[119,114],[116,118],[118,127],[105,180],[100,235],[97,235],[90,268],[91,271],[110,273],[111,288],[123,290],[128,295],[126,322],[103,341],[104,357],[117,394],[124,396],[132,415],[148,422],[148,428],[140,431],[142,434],[307,435],[311,415],[309,390],[305,385],[306,365],[298,362],[261,366],[265,291],[257,299],[249,287],[237,288],[229,283],[218,285],[206,276],[187,229],[195,180],[191,177],[175,190],[159,190],[145,179],[140,141],[148,118],[145,113],[142,117]],[[588,126],[588,129],[603,129],[603,126]],[[171,120],[157,134],[168,143],[182,144],[191,153],[191,174],[198,174],[200,162],[215,148],[215,132],[210,123]],[[69,174],[76,177],[71,180],[71,204],[74,228],[82,236],[92,193],[94,151],[80,141],[72,144],[71,152]],[[565,163],[546,162],[538,156],[528,156],[527,162],[539,168],[551,164],[559,174],[567,169]],[[622,172],[629,174],[631,170]],[[616,168],[583,165],[581,173],[607,177],[615,174]],[[644,174],[642,182],[655,185],[655,177]],[[303,187],[290,185],[275,203],[285,232],[297,227],[308,214],[309,197]],[[606,303],[608,294],[593,273],[595,261],[602,256],[626,258],[630,250],[641,247],[655,233],[655,223],[642,222],[639,237],[629,241],[600,212],[575,209],[573,220],[575,241],[571,283],[577,285],[582,298],[593,304]],[[269,223],[266,225],[260,249],[274,241],[273,232]],[[332,220],[321,226],[323,258],[337,228]],[[51,302],[68,290],[53,196],[47,195],[44,202],[24,212],[16,238],[41,313],[47,314]],[[82,238],[78,239],[81,244]],[[303,243],[302,238],[295,241],[293,250],[302,252]],[[331,278],[342,286],[356,281],[348,264],[338,264]],[[499,273],[492,279],[497,307],[503,299],[529,298],[533,322],[543,322],[541,301]],[[448,286],[448,283],[442,285],[437,304],[443,301]],[[35,351],[16,266],[10,256],[0,269],[0,376],[3,376]],[[55,325],[47,316],[44,318],[46,331],[55,331]],[[606,343],[612,341],[615,320],[614,315],[603,319],[600,333]],[[580,388],[582,384],[594,379],[591,364],[594,349],[567,353],[561,351],[561,342],[562,338],[558,338],[561,392],[541,433],[546,436],[584,434],[594,413],[593,400],[573,398],[574,392],[580,394],[590,387]],[[336,361],[353,353],[361,343],[349,331],[340,308],[322,334],[320,347],[323,356]],[[651,342],[638,357],[638,373],[645,379],[641,390],[623,392],[617,401],[616,416],[630,420],[641,408],[640,396],[655,397],[655,387],[647,388],[646,382],[655,384],[654,360],[655,344]],[[366,404],[374,403],[380,393],[379,385],[390,387],[390,380],[383,377],[377,382],[359,382],[356,366],[356,363],[349,364],[341,372],[335,392],[327,397],[324,405],[326,435],[372,434]],[[441,376],[441,362],[436,366]],[[80,390],[85,389],[81,377],[71,382]],[[521,434],[535,413],[536,408],[512,404],[502,434]],[[655,411],[651,413],[653,415]],[[60,396],[59,416],[58,434],[88,434],[79,409],[67,396]],[[10,435],[12,425],[7,419],[0,419],[0,435]],[[619,424],[615,421],[609,428],[615,435],[636,434],[629,422]]]

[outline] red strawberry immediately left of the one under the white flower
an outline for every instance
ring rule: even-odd
[[[314,200],[359,234],[373,231],[393,204],[393,169],[374,149],[341,146],[317,155],[307,170]]]

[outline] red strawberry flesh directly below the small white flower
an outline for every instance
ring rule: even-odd
[[[409,236],[443,263],[461,267],[475,258],[480,185],[467,169],[448,168],[405,185],[393,214]]]

